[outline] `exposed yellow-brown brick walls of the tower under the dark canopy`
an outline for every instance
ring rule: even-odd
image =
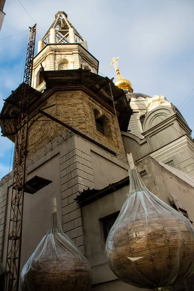
[[[81,129],[116,152],[125,154],[116,116],[105,106],[81,90],[57,91],[44,104],[41,104],[40,109],[53,104],[56,104],[56,106],[48,108],[46,110],[47,113],[70,126]],[[101,111],[107,116],[109,135],[103,135],[97,131],[94,109]],[[33,121],[30,121],[28,135],[29,156],[66,130],[63,126],[52,120],[45,120],[48,120],[48,118],[38,114],[33,118]]]

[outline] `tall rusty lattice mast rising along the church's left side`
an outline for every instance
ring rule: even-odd
[[[30,86],[35,47],[36,24],[30,27],[24,79],[20,91],[20,109],[16,128],[14,181],[11,198],[9,234],[6,258],[6,291],[18,291],[21,255],[24,187],[27,179],[27,138],[30,107]]]

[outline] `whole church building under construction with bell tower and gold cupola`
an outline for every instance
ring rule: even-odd
[[[104,252],[129,193],[131,152],[147,188],[194,221],[194,140],[178,109],[162,95],[134,93],[120,75],[98,74],[87,41],[59,11],[33,60],[20,272],[49,228],[51,199],[63,230],[92,268],[92,291],[140,291],[119,280]],[[0,113],[1,133],[15,142],[21,85]],[[0,182],[0,260],[6,265],[13,172]],[[33,193],[32,193],[33,192]],[[175,291],[191,291],[184,281]],[[19,289],[20,291],[20,289]]]

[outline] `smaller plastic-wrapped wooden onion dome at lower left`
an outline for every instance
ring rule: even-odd
[[[22,269],[22,291],[89,291],[89,262],[64,234],[54,205],[50,229]]]

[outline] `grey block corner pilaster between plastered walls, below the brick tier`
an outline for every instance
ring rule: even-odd
[[[83,189],[94,187],[91,156],[74,148],[62,155],[60,162],[63,229],[85,254],[81,208],[74,198]]]

